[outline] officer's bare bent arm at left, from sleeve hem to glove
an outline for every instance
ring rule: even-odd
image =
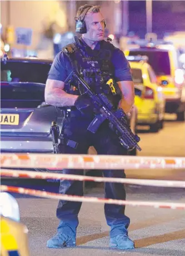
[[[71,95],[63,89],[64,82],[48,79],[45,88],[46,103],[57,107],[74,106],[78,95]]]

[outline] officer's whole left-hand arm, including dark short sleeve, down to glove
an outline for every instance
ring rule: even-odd
[[[71,95],[64,91],[64,82],[68,76],[68,58],[59,52],[54,58],[45,88],[45,101],[49,105],[63,107],[73,106],[77,95]]]

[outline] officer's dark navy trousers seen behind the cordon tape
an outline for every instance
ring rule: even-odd
[[[63,154],[87,154],[89,146],[94,146],[99,155],[126,155],[127,152],[119,144],[117,136],[109,129],[108,122],[104,121],[96,134],[87,131],[92,119],[83,117],[70,117],[64,121],[64,135],[70,140],[78,142],[76,149],[64,145]],[[83,175],[83,170],[64,169],[62,173]],[[125,178],[124,170],[104,170],[104,177]],[[105,183],[105,198],[126,199],[124,185],[121,183]],[[83,182],[62,180],[59,193],[68,195],[83,195]],[[76,232],[78,226],[78,213],[81,209],[81,202],[60,200],[57,208],[57,217],[61,220],[58,231],[61,227],[69,228],[69,232]],[[95,205],[94,205],[95,207]],[[93,206],[92,206],[93,208]],[[124,215],[122,205],[104,205],[104,213],[107,224],[111,227],[111,237],[120,233],[127,233],[129,218]],[[98,218],[98,216],[97,216]]]

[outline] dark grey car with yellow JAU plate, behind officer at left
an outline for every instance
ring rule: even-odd
[[[1,152],[53,152],[58,110],[44,102],[52,60],[1,58]]]

